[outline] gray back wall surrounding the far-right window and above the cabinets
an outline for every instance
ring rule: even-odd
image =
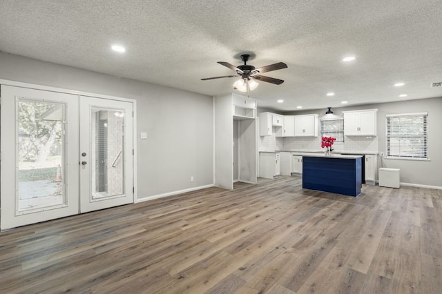
[[[343,117],[343,111],[378,109],[379,153],[386,154],[387,143],[385,115],[411,112],[428,112],[428,157],[430,161],[383,159],[385,168],[401,168],[401,182],[425,186],[442,187],[442,98],[418,99],[383,104],[369,104],[345,108],[332,108],[334,115]],[[318,113],[325,115],[327,108],[320,110],[303,110],[285,113],[285,115],[301,115]],[[379,161],[379,166],[381,161]]]

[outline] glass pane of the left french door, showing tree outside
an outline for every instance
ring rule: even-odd
[[[18,213],[66,205],[65,104],[18,101]]]

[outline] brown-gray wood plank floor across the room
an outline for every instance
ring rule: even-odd
[[[442,190],[208,188],[0,233],[1,293],[442,293]]]

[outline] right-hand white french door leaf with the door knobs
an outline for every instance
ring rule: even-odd
[[[132,103],[80,97],[80,212],[133,203]]]

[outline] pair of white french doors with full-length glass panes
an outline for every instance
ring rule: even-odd
[[[132,103],[1,85],[1,229],[133,203]]]

